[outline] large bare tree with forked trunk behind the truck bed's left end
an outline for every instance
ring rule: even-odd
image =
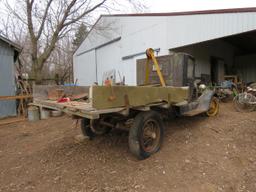
[[[16,0],[16,6],[6,1],[7,10],[27,29],[31,70],[36,83],[41,83],[41,71],[57,43],[71,33],[79,21],[90,19],[97,11],[111,11],[114,4],[107,4],[108,1],[111,0]],[[135,0],[126,2],[135,5]]]

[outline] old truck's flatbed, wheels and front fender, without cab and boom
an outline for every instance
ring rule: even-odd
[[[49,91],[49,87],[46,89]],[[34,97],[32,105],[81,118],[82,133],[90,139],[111,129],[128,130],[130,151],[138,159],[145,159],[160,149],[163,120],[170,115],[218,113],[213,91],[205,91],[194,102],[188,102],[189,92],[189,87],[92,86],[86,101],[60,103]]]

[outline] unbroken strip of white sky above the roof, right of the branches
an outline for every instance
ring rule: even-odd
[[[256,7],[256,0],[144,0],[150,12]]]

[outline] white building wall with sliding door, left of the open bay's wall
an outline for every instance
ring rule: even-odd
[[[146,49],[161,48],[159,55],[169,52],[166,47],[166,20],[163,17],[138,17],[136,22],[129,17],[106,17],[101,19],[101,25],[107,26],[106,30],[98,32],[95,28],[74,54],[74,77],[80,85],[88,86],[94,81],[101,84],[103,73],[112,69],[125,76],[127,84],[136,85],[136,60],[146,57]],[[116,38],[121,39],[100,46]],[[95,60],[91,59],[91,51],[86,51],[91,49],[95,50]],[[129,57],[131,55],[134,56]],[[127,56],[129,58],[123,59]]]

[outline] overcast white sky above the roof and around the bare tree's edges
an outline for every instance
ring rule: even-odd
[[[41,1],[41,0],[38,0]],[[99,0],[94,0],[99,1]],[[135,0],[131,0],[135,1]],[[195,10],[209,10],[209,9],[227,9],[227,8],[242,8],[242,7],[256,7],[256,0],[136,0],[143,3],[147,9],[143,12],[181,12],[181,11],[195,11]],[[5,0],[0,0],[0,19],[5,20],[4,6]],[[15,5],[15,0],[8,0],[10,5]],[[109,0],[112,2],[112,6],[117,6],[116,2],[120,4],[127,0]],[[125,4],[122,8],[111,13],[130,13],[136,12],[132,8],[128,8]],[[131,7],[131,6],[130,6]],[[92,15],[91,23],[93,24],[101,14],[106,14],[101,10],[96,11]],[[2,28],[2,22],[0,22],[0,31]]]

